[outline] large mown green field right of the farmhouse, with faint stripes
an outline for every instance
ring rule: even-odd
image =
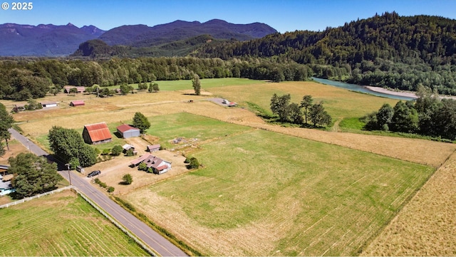
[[[166,133],[180,135],[180,130],[168,127]],[[247,256],[356,255],[434,172],[264,130],[208,142],[195,157],[204,169],[150,190],[180,206],[202,228],[229,234],[259,223],[280,235],[273,251],[252,245],[242,249]],[[226,254],[210,247],[199,251]]]

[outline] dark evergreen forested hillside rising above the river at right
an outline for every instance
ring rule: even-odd
[[[456,20],[437,16],[385,13],[320,32],[207,44],[197,56],[281,56],[313,65],[321,78],[400,90],[425,85],[456,95]]]

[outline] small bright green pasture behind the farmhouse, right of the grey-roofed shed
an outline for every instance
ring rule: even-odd
[[[230,124],[187,112],[155,116],[149,118],[149,121],[151,126],[147,134],[160,137],[160,143],[167,148],[175,146],[169,141],[177,137],[203,142],[254,130],[252,127]]]

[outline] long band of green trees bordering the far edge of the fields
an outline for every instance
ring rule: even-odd
[[[307,80],[308,65],[294,61],[242,58],[111,58],[75,59],[4,58],[0,60],[0,98],[28,100],[58,93],[64,85],[108,87],[152,83],[156,80],[199,78],[251,78],[258,80]]]

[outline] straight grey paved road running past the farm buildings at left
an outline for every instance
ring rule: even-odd
[[[48,156],[47,152],[33,144],[33,142],[19,134],[16,130],[9,129],[9,132],[14,138],[16,138],[16,140],[25,145],[34,154],[38,156]],[[60,165],[60,167],[64,166]],[[140,238],[156,253],[160,254],[160,256],[187,256],[184,251],[170,243],[170,241],[167,241],[166,238],[151,229],[150,226],[147,226],[147,224],[143,223],[133,216],[133,214],[130,214],[130,212],[120,207],[108,196],[98,191],[98,189],[95,189],[93,185],[90,184],[89,179],[81,178],[75,174],[71,176],[72,172],[68,172],[67,170],[59,170],[58,173],[68,181],[70,181],[71,178],[71,184],[73,184],[74,187],[78,188],[81,192],[83,192],[83,194],[86,194],[89,199],[98,204],[98,206],[100,206],[106,213],[113,216],[113,218],[120,224],[123,224],[123,226],[125,226],[125,228],[127,228],[131,233],[138,236],[138,238]]]

